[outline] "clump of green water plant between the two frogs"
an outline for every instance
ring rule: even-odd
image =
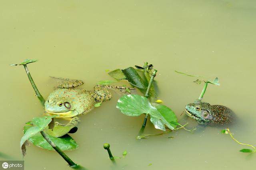
[[[145,136],[143,132],[148,116],[150,116],[150,121],[154,124],[156,129],[163,131],[166,131],[166,127],[170,129],[170,131],[180,129],[175,129],[176,126],[180,124],[174,112],[167,106],[159,104],[162,103],[162,100],[156,100],[156,82],[154,81],[156,72],[157,70],[153,69],[152,64],[148,65],[148,62],[145,62],[143,67],[135,66],[135,68],[128,67],[124,70],[116,69],[108,73],[118,81],[127,80],[132,86],[137,87],[140,92],[145,94],[144,96],[138,94],[124,95],[119,98],[116,104],[116,108],[127,116],[140,116],[141,114],[145,114],[142,128],[137,138],[146,138],[143,137],[143,135]],[[182,128],[184,128],[184,126],[182,126]],[[146,136],[158,135],[159,134],[149,134]]]

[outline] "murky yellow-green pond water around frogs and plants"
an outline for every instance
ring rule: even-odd
[[[209,85],[203,100],[234,110],[240,121],[230,130],[241,142],[256,144],[254,0],[8,0],[0,4],[0,152],[21,160],[22,127],[44,113],[24,69],[8,66],[25,58],[40,60],[29,64],[29,69],[44,97],[58,84],[48,76],[81,79],[84,88],[92,89],[96,82],[111,79],[106,69],[148,61],[158,70],[159,99],[179,118],[203,85],[174,70],[218,76],[221,86]],[[170,134],[173,139],[136,140],[144,117],[123,115],[115,107],[118,98],[120,94],[114,94],[110,102],[81,116],[79,130],[72,135],[80,147],[66,154],[89,170],[255,169],[256,155],[238,152],[246,147],[216,127],[195,134],[179,130]],[[196,126],[194,120],[188,122]],[[145,132],[160,131],[148,122]],[[102,148],[105,142],[115,156],[127,150],[126,158],[114,166]],[[28,147],[24,160],[26,170],[70,170],[58,154],[35,146]]]

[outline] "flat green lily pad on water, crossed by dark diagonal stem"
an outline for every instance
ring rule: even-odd
[[[24,126],[24,134],[28,132],[31,128],[34,128],[34,126],[26,124]],[[60,138],[56,138],[50,135],[48,135],[48,137],[61,150],[74,150],[78,148],[78,144],[76,143],[76,141],[74,141],[74,139],[68,134]],[[32,137],[28,138],[28,140],[40,148],[44,148],[47,150],[54,150],[54,148],[52,148],[52,146],[44,139],[44,137],[39,132],[34,134]]]

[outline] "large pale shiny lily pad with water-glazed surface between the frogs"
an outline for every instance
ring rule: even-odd
[[[164,125],[170,129],[174,127],[162,116],[162,114],[150,104],[148,99],[137,94],[128,94],[122,96],[116,105],[123,114],[127,116],[140,116],[141,114],[149,114],[150,121],[156,129],[166,131]]]

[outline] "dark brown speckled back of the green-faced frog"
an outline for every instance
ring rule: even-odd
[[[226,106],[212,105],[211,112],[212,120],[209,125],[230,125],[234,124],[234,121],[236,120],[234,112]]]

